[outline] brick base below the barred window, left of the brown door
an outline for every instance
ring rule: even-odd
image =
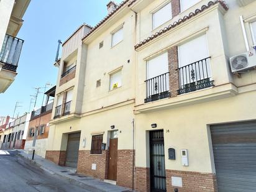
[[[90,150],[79,151],[77,172],[104,180],[106,178],[107,150],[100,155],[91,155],[90,153]],[[96,164],[96,170],[91,169],[93,163]]]

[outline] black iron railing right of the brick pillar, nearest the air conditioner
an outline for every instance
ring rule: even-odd
[[[178,94],[214,86],[213,80],[211,80],[210,58],[207,57],[177,69],[180,80]]]

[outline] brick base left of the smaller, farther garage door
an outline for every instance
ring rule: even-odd
[[[64,166],[66,160],[66,151],[62,150],[47,150],[45,154],[45,158],[50,160],[51,162]]]

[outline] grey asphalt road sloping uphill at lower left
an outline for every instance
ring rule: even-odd
[[[76,183],[52,175],[17,155],[0,150],[0,192],[91,192]]]

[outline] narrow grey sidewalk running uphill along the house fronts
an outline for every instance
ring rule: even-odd
[[[32,154],[27,154],[24,150],[19,151],[19,155],[21,157],[27,158],[30,162],[35,163],[35,165],[42,168],[42,170],[48,171],[51,174],[56,174],[58,176],[62,176],[70,181],[73,181],[80,185],[81,187],[91,190],[91,191],[111,191],[111,192],[132,192],[128,188],[124,188],[121,186],[111,185],[109,183],[105,183],[99,179],[92,178],[90,176],[80,175],[76,173],[75,168],[70,167],[60,167],[55,165],[55,163],[46,160],[45,158],[40,157],[39,155],[35,155],[34,160],[32,159]]]

